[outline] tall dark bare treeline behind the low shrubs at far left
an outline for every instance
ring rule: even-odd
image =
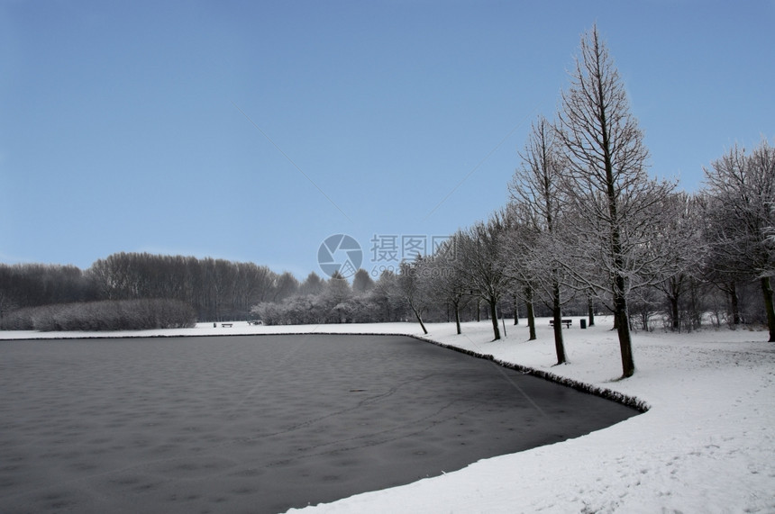
[[[299,284],[289,273],[224,259],[117,253],[87,270],[0,264],[0,320],[25,307],[103,300],[169,299],[197,320],[246,319],[260,302],[279,302]]]

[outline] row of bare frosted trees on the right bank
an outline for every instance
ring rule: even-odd
[[[563,305],[586,297],[590,313],[594,301],[614,314],[626,377],[635,369],[634,313],[648,326],[663,295],[670,327],[681,329],[691,294],[691,321],[698,323],[698,299],[713,285],[728,295],[739,323],[738,292],[755,281],[775,341],[775,149],[767,140],[750,154],[735,146],[714,161],[697,194],[648,176],[643,131],[594,27],[582,38],[555,120],[533,123],[520,158],[506,208],[402,270],[415,283],[407,300],[418,319],[425,302],[442,298],[454,306],[475,292],[490,306],[497,339],[504,295],[521,296],[530,323],[538,299],[551,306],[561,364]],[[443,272],[424,281],[433,269]]]

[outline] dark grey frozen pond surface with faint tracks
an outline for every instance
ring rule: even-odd
[[[0,341],[0,511],[284,511],[635,414],[406,337]]]

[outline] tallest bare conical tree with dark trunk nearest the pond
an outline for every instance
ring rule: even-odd
[[[570,86],[562,93],[558,137],[567,158],[567,193],[583,227],[574,246],[592,273],[577,273],[583,287],[610,294],[623,376],[635,364],[627,296],[644,284],[660,256],[649,241],[661,218],[661,202],[674,188],[651,180],[648,150],[630,113],[625,86],[597,26],[581,39]],[[572,268],[570,271],[573,271]]]

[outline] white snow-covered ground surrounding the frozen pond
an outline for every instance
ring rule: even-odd
[[[454,473],[373,491],[306,512],[775,512],[775,344],[763,331],[707,329],[634,335],[637,371],[621,374],[611,321],[566,330],[570,364],[553,365],[552,331],[524,321],[491,342],[488,321],[431,324],[427,338],[507,363],[634,396],[650,410],[587,436],[482,460]],[[420,335],[415,324],[231,328],[133,332],[138,336],[360,332]],[[128,334],[0,332],[3,338]]]

